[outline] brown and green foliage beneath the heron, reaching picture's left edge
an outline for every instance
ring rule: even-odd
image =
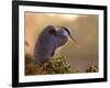
[[[42,67],[34,64],[34,58],[25,55],[25,75],[44,75],[44,74],[68,74],[70,65],[66,62],[65,57],[50,58]]]

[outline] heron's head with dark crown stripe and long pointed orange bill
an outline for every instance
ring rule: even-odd
[[[65,35],[68,38],[70,38],[74,42],[74,44],[79,48],[79,45],[78,45],[77,41],[74,38],[74,36],[72,35],[69,29],[67,29],[65,26],[59,26],[58,31],[59,31],[61,35]]]

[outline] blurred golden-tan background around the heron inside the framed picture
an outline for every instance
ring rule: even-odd
[[[85,72],[98,66],[98,15],[25,12],[25,53],[33,55],[41,31],[47,25],[69,28],[78,42],[77,48],[70,40],[56,52],[54,57],[65,56],[73,70]]]

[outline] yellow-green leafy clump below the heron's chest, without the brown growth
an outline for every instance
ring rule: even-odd
[[[72,73],[69,64],[65,57],[52,58],[42,67],[46,74],[67,74]]]

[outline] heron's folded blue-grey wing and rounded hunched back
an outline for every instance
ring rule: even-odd
[[[53,50],[55,48],[55,28],[53,25],[46,26],[41,34],[35,44],[34,55],[38,55],[38,57],[50,57],[52,56]]]

